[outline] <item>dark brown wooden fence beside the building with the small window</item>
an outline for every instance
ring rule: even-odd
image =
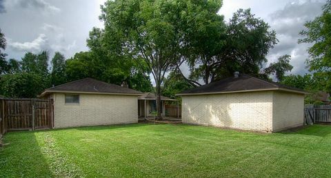
[[[4,105],[8,131],[52,128],[51,100],[5,99]]]

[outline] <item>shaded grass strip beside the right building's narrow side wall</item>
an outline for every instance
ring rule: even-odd
[[[279,133],[285,135],[312,135],[318,137],[331,137],[331,126],[315,124],[313,126],[292,128]]]

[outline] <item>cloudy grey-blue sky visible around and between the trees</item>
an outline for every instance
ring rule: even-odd
[[[72,57],[86,51],[86,39],[99,21],[100,6],[106,0],[0,0],[0,28],[7,40],[8,59],[21,60],[25,52],[59,51]],[[268,63],[282,55],[291,55],[293,70],[288,74],[308,72],[305,59],[310,44],[298,44],[305,21],[321,14],[326,0],[223,0],[219,14],[225,21],[239,8],[251,8],[256,17],[277,32],[279,43],[270,50]],[[265,63],[265,65],[268,65]],[[184,67],[185,70],[185,67]],[[186,69],[187,70],[187,69]],[[188,71],[185,72],[186,74]]]

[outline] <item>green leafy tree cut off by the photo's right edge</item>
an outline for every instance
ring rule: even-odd
[[[300,34],[304,37],[299,43],[312,43],[308,48],[307,59],[310,71],[319,79],[325,92],[331,94],[331,1],[323,6],[321,16],[305,23],[306,30]]]

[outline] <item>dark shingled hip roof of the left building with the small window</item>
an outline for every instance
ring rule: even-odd
[[[44,90],[39,97],[43,97],[52,92],[74,92],[74,93],[95,93],[111,95],[143,95],[143,92],[130,88],[117,86],[96,79],[86,78],[62,84]]]

